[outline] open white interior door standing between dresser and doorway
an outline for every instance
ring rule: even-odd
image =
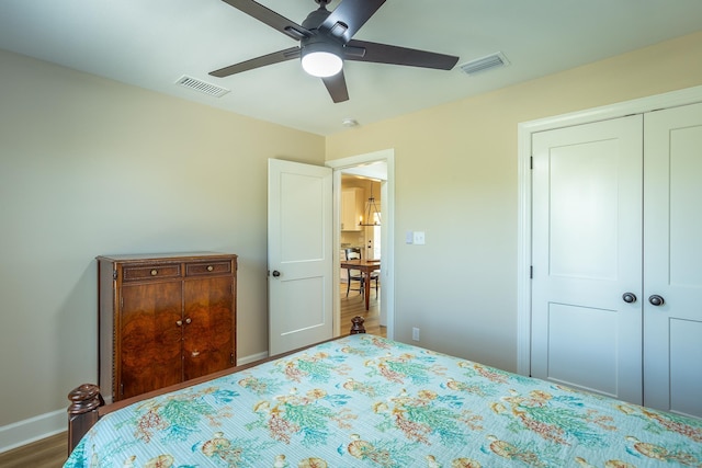
[[[270,355],[332,336],[331,174],[269,159]]]

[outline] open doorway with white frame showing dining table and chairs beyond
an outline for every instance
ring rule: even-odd
[[[394,151],[384,150],[369,155],[328,161],[333,169],[335,192],[335,335],[348,332],[349,323],[342,319],[351,313],[364,317],[371,327],[369,332],[394,336]],[[358,197],[358,208],[352,215],[347,210],[343,219],[342,205],[344,190],[354,194],[346,194],[346,205]],[[374,198],[375,207],[370,198]],[[371,213],[369,214],[369,206]],[[380,213],[375,213],[375,212]],[[377,224],[376,224],[377,222]],[[370,226],[363,226],[370,225]],[[356,290],[349,290],[348,272],[341,269],[346,260],[346,248],[358,248],[364,260],[375,260],[380,271],[375,270],[370,287],[360,289],[359,283],[353,284]],[[366,265],[367,269],[371,266]],[[370,273],[369,270],[366,273]],[[377,289],[376,289],[377,286]],[[347,297],[347,290],[349,296]],[[376,293],[377,290],[377,293]],[[367,297],[366,297],[367,295]],[[367,303],[365,303],[367,300]],[[347,317],[348,318],[348,317]],[[347,320],[348,321],[348,320]]]

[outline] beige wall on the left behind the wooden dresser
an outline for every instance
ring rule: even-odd
[[[98,254],[239,254],[238,354],[265,352],[268,158],[324,138],[1,50],[0,82],[0,430],[95,381]]]

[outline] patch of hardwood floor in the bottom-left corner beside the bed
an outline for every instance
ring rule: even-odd
[[[68,457],[68,435],[63,432],[0,454],[2,468],[60,468]]]

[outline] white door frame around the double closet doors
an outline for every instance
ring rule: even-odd
[[[697,102],[702,102],[702,85],[518,124],[517,372],[519,374],[531,375],[532,134]]]

